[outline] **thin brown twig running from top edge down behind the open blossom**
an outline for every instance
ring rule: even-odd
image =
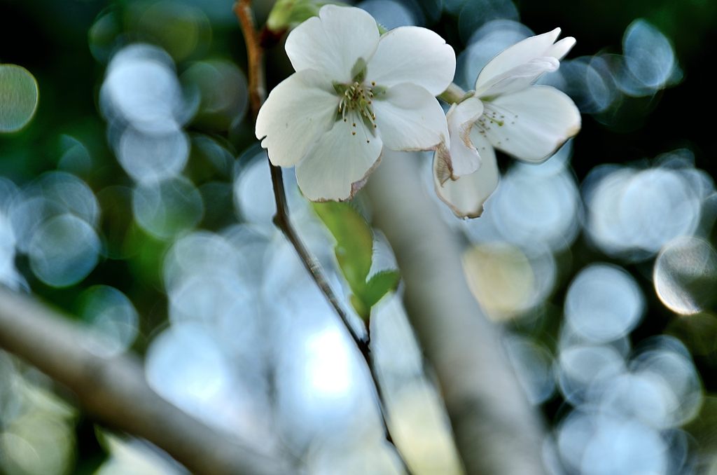
[[[260,34],[257,32],[254,17],[251,11],[252,0],[238,0],[234,4],[234,14],[239,19],[239,26],[244,34],[244,42],[247,45],[247,62],[248,62],[248,77],[249,77],[249,97],[250,105],[252,109],[252,115],[256,120],[259,114],[259,109],[262,103],[266,100],[266,84],[265,84],[265,70],[264,70],[264,49],[261,46]],[[366,366],[369,367],[369,373],[371,380],[374,383],[376,390],[377,402],[379,405],[379,414],[381,415],[381,424],[384,429],[384,436],[389,445],[394,449],[397,454],[399,461],[402,464],[402,468],[405,473],[411,474],[406,461],[404,460],[401,451],[397,448],[394,443],[394,439],[391,436],[389,430],[387,410],[386,410],[386,398],[383,390],[381,390],[381,384],[379,383],[379,375],[374,362],[374,357],[371,354],[371,330],[369,325],[366,325],[366,337],[359,335],[351,322],[348,321],[348,315],[343,310],[341,304],[338,302],[338,298],[331,290],[331,286],[328,284],[328,279],[324,275],[323,269],[321,268],[318,260],[311,254],[310,250],[306,248],[298,233],[291,224],[289,217],[289,208],[286,200],[286,192],[284,188],[284,179],[282,177],[281,167],[274,166],[269,163],[271,170],[272,187],[274,189],[274,199],[276,202],[276,215],[274,216],[274,225],[278,227],[284,236],[293,245],[294,250],[299,255],[304,267],[313,278],[320,291],[326,297],[326,300],[336,311],[336,315],[341,320],[343,326],[346,327],[348,334],[351,335],[351,339],[356,344],[356,347],[361,352],[361,356],[364,357]]]

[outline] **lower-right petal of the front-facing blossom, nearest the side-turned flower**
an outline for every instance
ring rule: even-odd
[[[376,125],[391,150],[432,150],[448,137],[443,109],[431,93],[414,84],[399,84],[374,98]]]

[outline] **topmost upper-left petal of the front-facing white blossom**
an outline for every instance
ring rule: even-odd
[[[366,11],[353,6],[325,5],[286,39],[286,54],[295,70],[317,70],[331,80],[348,83],[359,58],[369,61],[379,44],[379,27]]]

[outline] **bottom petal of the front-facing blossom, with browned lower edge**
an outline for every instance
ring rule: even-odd
[[[351,132],[356,131],[356,135]],[[379,164],[381,138],[363,123],[337,121],[296,166],[296,180],[312,201],[349,199]]]

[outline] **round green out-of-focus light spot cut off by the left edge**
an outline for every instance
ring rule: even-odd
[[[16,132],[37,110],[37,81],[24,67],[0,65],[0,133]]]

